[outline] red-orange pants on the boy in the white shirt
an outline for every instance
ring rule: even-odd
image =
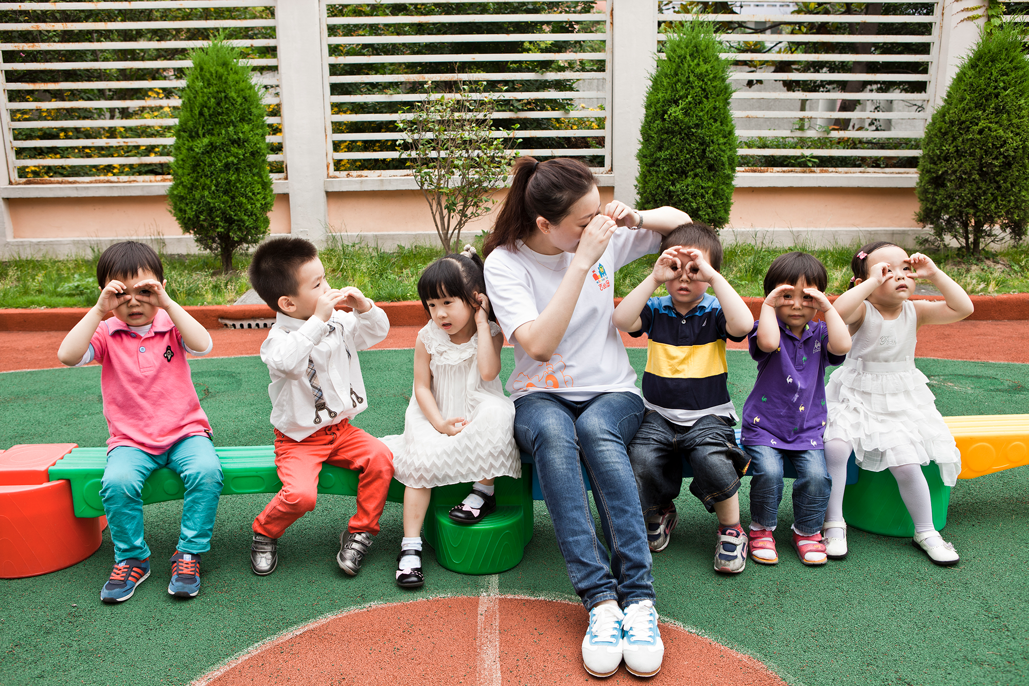
[[[275,431],[275,467],[282,488],[254,519],[256,534],[278,539],[294,521],[315,509],[322,462],[360,473],[357,512],[351,533],[379,533],[379,517],[393,478],[393,453],[382,441],[352,426],[346,419],[294,441]]]

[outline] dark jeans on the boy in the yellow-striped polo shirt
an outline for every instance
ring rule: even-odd
[[[644,517],[666,510],[678,498],[683,458],[694,471],[689,492],[708,512],[714,512],[715,503],[732,498],[740,489],[740,477],[750,461],[736,445],[732,426],[720,417],[709,414],[693,426],[682,426],[665,419],[660,412],[647,410],[643,424],[629,444],[629,460]]]

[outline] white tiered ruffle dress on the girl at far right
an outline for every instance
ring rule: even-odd
[[[824,441],[849,441],[857,464],[870,472],[934,461],[944,483],[953,486],[961,453],[936,409],[928,379],[915,367],[917,330],[911,301],[892,320],[864,301],[864,321],[825,387]]]

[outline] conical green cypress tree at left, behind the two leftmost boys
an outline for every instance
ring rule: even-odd
[[[233,269],[233,253],[268,235],[275,196],[261,94],[220,38],[190,53],[172,146],[168,201],[182,231]]]

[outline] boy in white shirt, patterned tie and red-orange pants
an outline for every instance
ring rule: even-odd
[[[275,466],[282,489],[253,523],[250,567],[264,576],[278,564],[286,528],[315,509],[322,462],[360,472],[357,512],[340,535],[336,562],[353,576],[379,533],[393,478],[393,454],[350,423],[367,407],[357,351],[389,332],[386,313],[354,287],[331,288],[318,249],[301,238],[267,241],[254,251],[250,283],[276,310],[260,348],[272,383]],[[353,312],[336,311],[347,305]]]

